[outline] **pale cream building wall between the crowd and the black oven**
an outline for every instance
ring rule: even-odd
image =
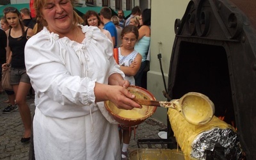
[[[157,100],[167,100],[163,95],[163,76],[161,74],[157,54],[161,53],[164,79],[166,85],[168,85],[170,58],[172,55],[173,42],[175,40],[174,24],[176,19],[182,19],[188,3],[189,0],[152,0],[150,71],[147,73],[147,90],[151,92]],[[153,117],[166,124],[167,109],[157,108]]]

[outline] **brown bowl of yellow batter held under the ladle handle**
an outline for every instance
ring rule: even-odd
[[[127,90],[136,95],[136,98],[138,99],[156,100],[152,93],[139,86],[129,86]],[[109,100],[105,101],[104,104],[113,118],[119,124],[125,125],[127,127],[141,124],[149,116],[152,116],[156,112],[157,108],[156,106],[142,106],[141,109],[133,108],[131,110],[125,110],[117,108],[115,104]]]

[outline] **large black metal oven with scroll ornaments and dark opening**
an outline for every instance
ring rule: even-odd
[[[171,99],[200,92],[214,102],[215,115],[237,128],[246,159],[256,159],[255,6],[252,0],[189,1],[175,21],[168,79]]]

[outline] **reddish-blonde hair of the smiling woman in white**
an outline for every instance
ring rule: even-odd
[[[77,0],[69,0],[70,3],[72,3],[72,6],[74,7],[74,5],[76,4]],[[47,2],[47,0],[34,0],[34,8],[36,11],[36,24],[35,27],[33,29],[34,33],[38,33],[39,31],[41,31],[44,26],[48,26],[46,20],[42,17],[42,8],[44,8],[45,3]],[[75,25],[77,24],[83,24],[83,19],[73,10],[74,13],[74,21],[73,23]]]

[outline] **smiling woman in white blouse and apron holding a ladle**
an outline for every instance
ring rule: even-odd
[[[75,0],[34,0],[44,28],[25,47],[35,90],[35,159],[121,159],[118,123],[104,106],[141,108],[113,57],[113,44],[83,26]],[[40,25],[39,25],[40,26]]]

